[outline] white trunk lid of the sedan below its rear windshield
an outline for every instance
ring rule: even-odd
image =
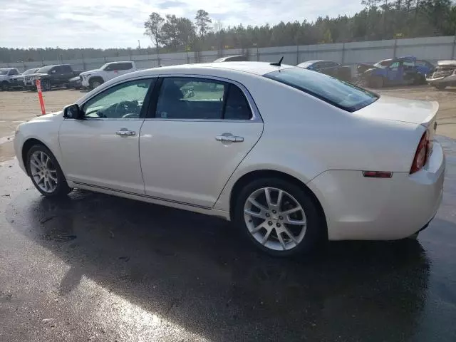
[[[408,100],[405,98],[393,98],[381,96],[371,105],[368,105],[355,114],[364,118],[380,120],[402,121],[403,123],[415,123],[429,125],[439,108],[437,101]]]

